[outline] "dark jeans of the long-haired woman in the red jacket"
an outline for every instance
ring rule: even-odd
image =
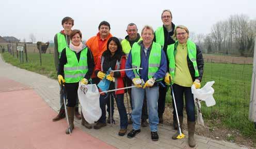
[[[100,107],[101,107],[102,115],[99,122],[106,123],[106,103],[107,101],[110,101],[109,100],[110,96],[111,96],[111,99],[113,98],[116,99],[117,108],[120,116],[120,128],[126,129],[128,125],[128,118],[126,114],[126,108],[123,103],[123,94],[118,94],[116,96],[114,94],[107,94],[107,95],[100,96]]]

